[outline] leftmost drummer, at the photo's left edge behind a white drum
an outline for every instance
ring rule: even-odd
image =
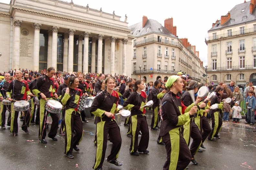
[[[2,127],[2,129],[6,129],[5,128],[5,112],[6,110],[8,110],[9,112],[11,111],[11,105],[8,104],[3,104],[2,100],[3,99],[6,99],[6,90],[8,89],[9,87],[9,84],[10,84],[11,80],[10,80],[10,74],[9,73],[5,73],[5,79],[0,83],[0,100],[1,100],[1,110],[0,110],[0,116],[1,116],[1,122],[0,122],[0,125]],[[9,116],[8,116],[8,120],[9,120],[9,117],[11,117],[11,114],[9,113]],[[7,125],[10,126],[9,124],[10,122],[7,122]]]

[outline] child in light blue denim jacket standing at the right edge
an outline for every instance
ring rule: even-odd
[[[254,112],[255,112],[255,103],[256,103],[256,100],[255,100],[255,97],[252,96],[253,94],[253,91],[252,90],[249,90],[248,91],[248,97],[246,98],[246,104],[247,104],[247,120],[246,120],[246,124],[249,124],[250,125],[254,125]]]

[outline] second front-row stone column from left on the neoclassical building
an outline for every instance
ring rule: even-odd
[[[39,40],[40,40],[40,28],[42,24],[34,23],[35,28],[34,35],[34,52],[33,52],[33,70],[39,70]]]

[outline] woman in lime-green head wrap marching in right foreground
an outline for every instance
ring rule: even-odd
[[[167,160],[163,170],[185,169],[191,161],[191,153],[187,143],[180,133],[180,128],[188,122],[189,117],[197,112],[197,106],[191,107],[189,112],[182,114],[181,99],[179,93],[184,86],[179,76],[173,75],[168,78],[167,92],[161,102],[161,130],[167,153]]]

